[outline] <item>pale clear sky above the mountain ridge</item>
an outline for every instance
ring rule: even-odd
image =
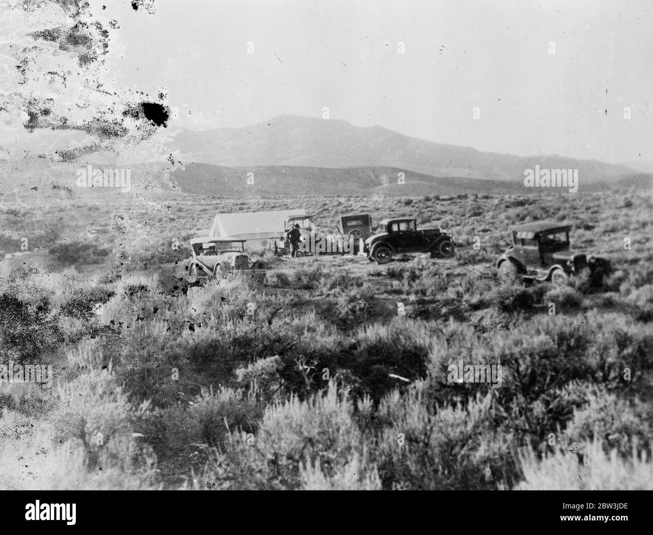
[[[165,87],[173,125],[328,107],[332,119],[482,151],[653,164],[648,0],[157,0],[154,15],[91,5],[121,25],[116,79]]]

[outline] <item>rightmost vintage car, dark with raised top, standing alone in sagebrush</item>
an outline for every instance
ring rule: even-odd
[[[570,230],[569,224],[550,221],[511,228],[513,245],[496,261],[500,277],[550,281],[557,285],[588,269],[592,284],[600,285],[610,271],[609,260],[573,251],[569,243]]]

